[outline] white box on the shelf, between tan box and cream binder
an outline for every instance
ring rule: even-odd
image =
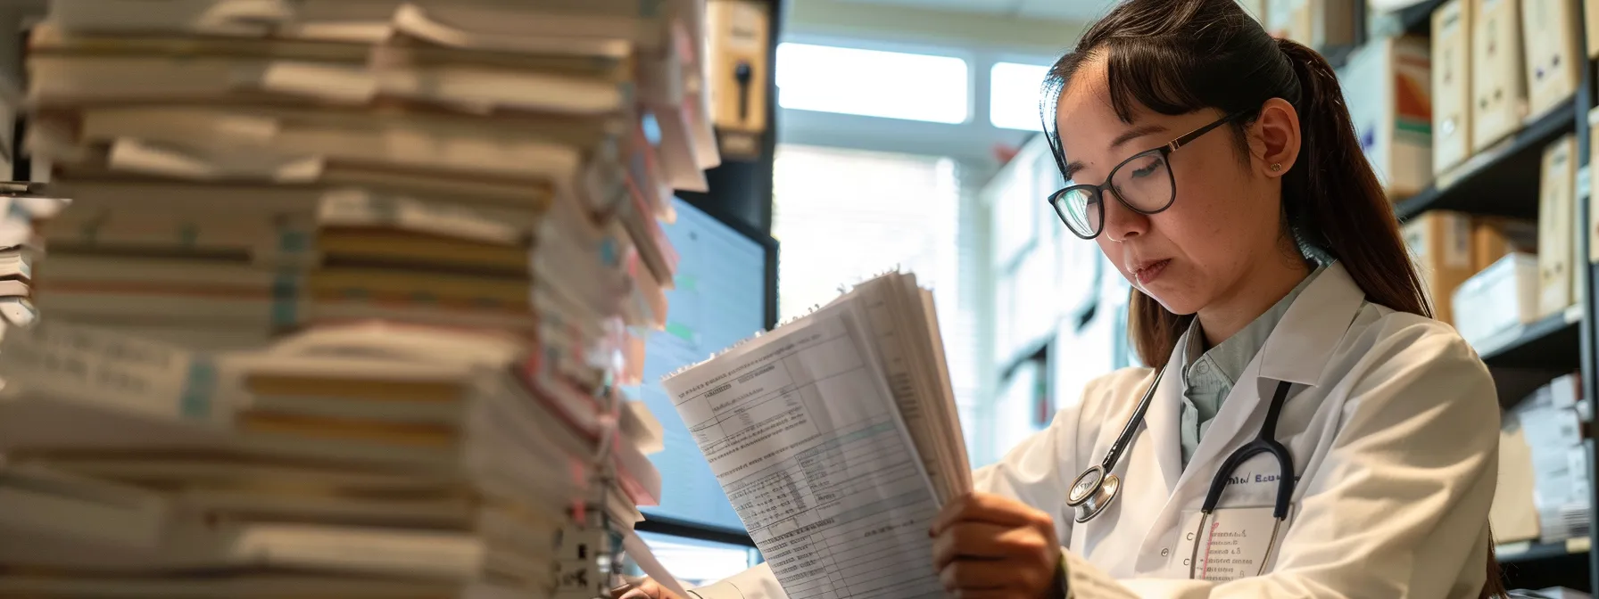
[[[1455,331],[1473,347],[1538,321],[1538,257],[1509,254],[1471,275],[1450,302]]]

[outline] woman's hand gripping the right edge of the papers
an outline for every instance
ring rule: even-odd
[[[961,599],[1057,599],[1065,594],[1055,522],[991,494],[963,495],[934,519],[932,564]]]

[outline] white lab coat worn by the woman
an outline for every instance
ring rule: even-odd
[[[1178,343],[1178,347],[1182,347]],[[1115,473],[1121,497],[1073,522],[1067,487],[1099,463],[1153,369],[1094,380],[1083,399],[975,473],[979,490],[1046,510],[1067,551],[1073,597],[1477,597],[1498,468],[1498,401],[1477,355],[1445,324],[1366,303],[1340,264],[1321,273],[1266,339],[1182,466],[1180,356]],[[1278,382],[1294,383],[1278,441],[1300,476],[1294,513],[1262,577],[1188,580],[1180,519],[1204,502],[1220,463],[1265,420]],[[1270,506],[1270,455],[1238,468],[1220,508]],[[769,570],[696,591],[777,599]]]

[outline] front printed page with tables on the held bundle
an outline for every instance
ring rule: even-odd
[[[843,302],[662,385],[792,599],[942,597],[932,486]]]

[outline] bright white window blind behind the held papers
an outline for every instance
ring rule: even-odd
[[[963,219],[958,165],[942,157],[780,145],[772,236],[784,319],[889,268],[932,289],[967,447],[980,447],[980,289],[974,256],[983,227]],[[971,211],[967,211],[969,214]]]

